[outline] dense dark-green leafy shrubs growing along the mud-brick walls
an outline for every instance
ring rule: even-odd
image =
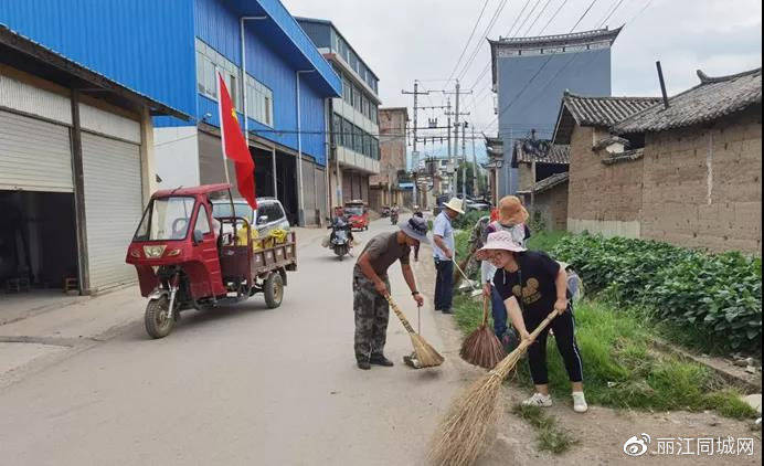
[[[761,258],[588,234],[563,236],[552,255],[570,263],[587,290],[683,327],[699,348],[761,352]]]

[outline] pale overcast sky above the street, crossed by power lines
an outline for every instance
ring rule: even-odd
[[[412,117],[413,98],[401,91],[412,91],[414,80],[420,82],[420,91],[431,92],[420,97],[420,105],[445,105],[442,91],[453,92],[453,78],[460,76],[461,88],[473,91],[463,98],[476,133],[496,134],[497,126],[490,67],[481,76],[490,66],[486,38],[625,24],[612,51],[613,95],[658,96],[657,60],[669,95],[698,84],[696,70],[718,76],[762,64],[762,4],[757,0],[595,0],[593,6],[592,0],[282,1],[293,15],[335,24],[379,76],[383,107],[406,106]],[[420,110],[420,126],[435,117],[444,126],[442,110]],[[425,150],[432,149],[431,144]],[[479,159],[485,157],[482,144],[476,150]],[[438,145],[435,153],[445,153],[445,147]],[[467,153],[471,157],[469,142]]]

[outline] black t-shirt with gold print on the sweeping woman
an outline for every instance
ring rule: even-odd
[[[558,300],[558,287],[554,280],[560,273],[560,264],[545,253],[527,251],[518,254],[518,272],[496,271],[494,286],[502,300],[514,296],[520,303],[522,314],[548,315],[554,309]],[[522,288],[520,279],[522,278]],[[520,295],[522,294],[522,300]]]

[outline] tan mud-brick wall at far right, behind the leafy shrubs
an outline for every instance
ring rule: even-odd
[[[761,254],[761,107],[754,110],[647,135],[644,237]]]

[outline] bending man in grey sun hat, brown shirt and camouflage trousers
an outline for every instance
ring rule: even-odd
[[[384,343],[390,317],[390,306],[385,298],[390,294],[388,268],[395,261],[401,262],[403,277],[416,305],[424,304],[424,298],[416,290],[408,255],[412,247],[428,243],[427,223],[422,218],[412,216],[399,223],[399,229],[394,233],[380,233],[372,237],[353,269],[354,347],[359,369],[369,370],[371,364],[393,366],[393,361],[384,356]]]

